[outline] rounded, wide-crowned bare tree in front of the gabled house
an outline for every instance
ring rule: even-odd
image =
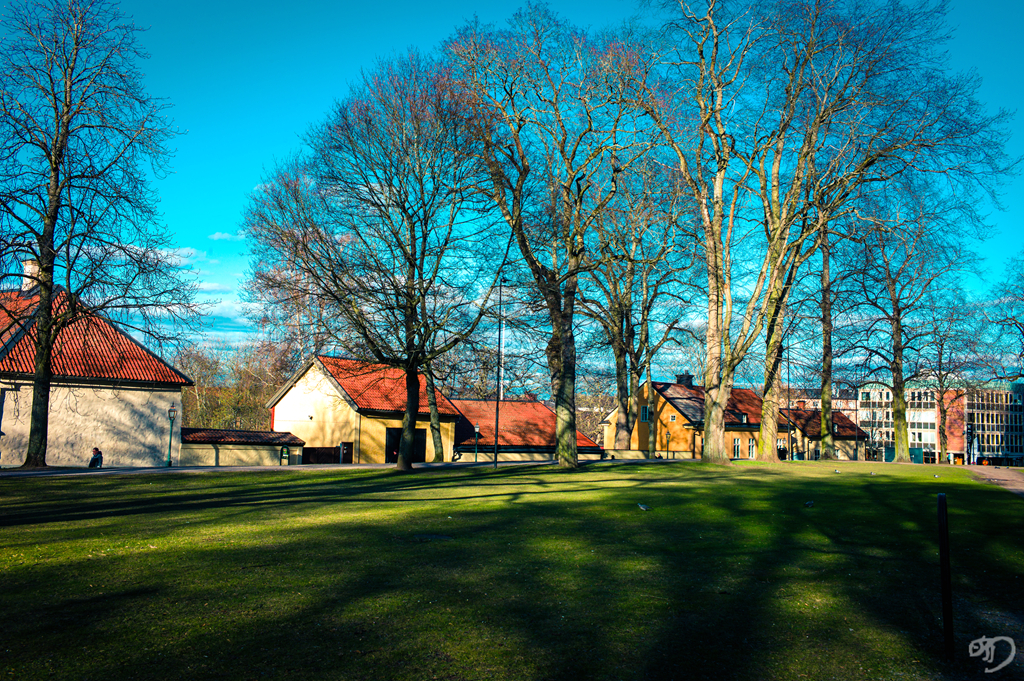
[[[507,252],[487,257],[469,115],[435,62],[382,62],[246,214],[254,301],[298,333],[404,370],[399,470],[412,469],[420,373],[479,325]]]

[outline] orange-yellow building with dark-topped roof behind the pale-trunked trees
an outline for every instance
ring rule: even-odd
[[[647,384],[640,386],[639,414],[630,437],[629,450],[615,449],[617,408],[608,415],[604,426],[604,449],[618,457],[645,457],[653,433],[655,456],[667,459],[699,459],[703,451],[702,387],[693,385],[693,377],[680,374],[675,383],[653,381],[653,399],[647,399]],[[725,412],[725,444],[733,459],[753,459],[761,429],[761,397],[746,388],[733,388]],[[788,425],[782,419],[779,433]],[[784,439],[784,436],[780,437]]]

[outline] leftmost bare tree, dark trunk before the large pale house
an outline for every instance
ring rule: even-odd
[[[35,341],[25,466],[39,467],[61,331],[99,312],[174,340],[196,321],[196,289],[157,221],[147,175],[163,173],[174,130],[167,104],[142,87],[138,29],[104,0],[19,2],[5,11],[0,278],[26,289],[5,298],[4,312]]]

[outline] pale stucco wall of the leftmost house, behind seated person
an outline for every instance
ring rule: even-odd
[[[29,445],[32,385],[20,384],[5,393],[0,430],[0,464],[25,462]],[[165,466],[174,406],[171,460],[178,465],[181,448],[181,391],[141,388],[90,388],[54,384],[50,389],[50,419],[46,463],[87,466],[92,448],[103,453],[104,466]]]

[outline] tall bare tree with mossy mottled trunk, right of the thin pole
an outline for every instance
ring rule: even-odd
[[[477,117],[481,183],[518,246],[551,328],[546,354],[557,457],[577,465],[574,320],[588,235],[618,173],[647,148],[629,104],[628,41],[568,26],[544,6],[506,30],[470,24],[446,45]]]

